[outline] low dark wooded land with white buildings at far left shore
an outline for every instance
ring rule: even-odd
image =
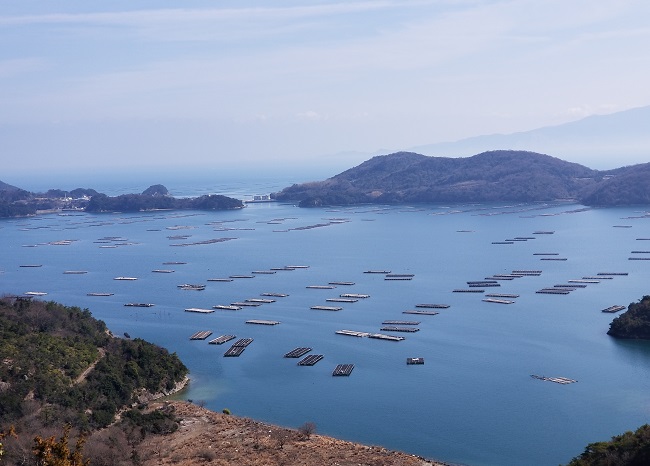
[[[0,218],[24,217],[38,212],[76,210],[86,212],[140,212],[146,210],[229,210],[244,207],[242,201],[209,194],[175,198],[163,185],[153,185],[140,194],[107,196],[94,189],[71,191],[50,189],[31,193],[0,181]]]

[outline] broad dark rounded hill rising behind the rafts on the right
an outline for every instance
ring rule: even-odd
[[[534,202],[575,199],[589,205],[650,203],[650,164],[610,171],[525,151],[472,157],[427,157],[412,152],[373,157],[320,182],[274,194],[300,206],[413,202]]]

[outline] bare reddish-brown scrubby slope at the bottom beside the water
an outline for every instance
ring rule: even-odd
[[[443,466],[382,447],[318,435],[309,432],[314,430],[310,425],[285,429],[184,401],[165,403],[167,409],[170,405],[175,409],[180,428],[173,434],[148,437],[140,445],[143,466]]]

